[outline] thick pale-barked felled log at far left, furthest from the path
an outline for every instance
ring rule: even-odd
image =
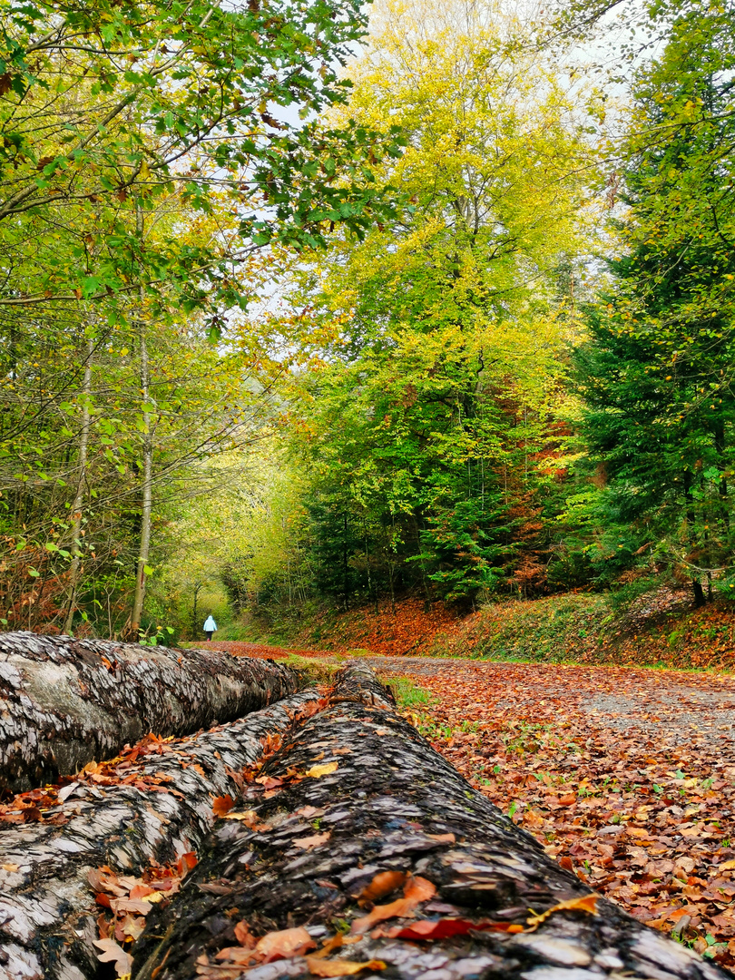
[[[298,688],[293,670],[216,651],[0,634],[0,792],[109,759],[148,732],[187,735]]]

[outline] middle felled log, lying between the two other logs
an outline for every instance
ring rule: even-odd
[[[91,773],[64,787],[63,803],[35,814],[48,822],[0,825],[0,980],[96,976],[102,909],[92,915],[90,870],[137,874],[196,852],[215,820],[213,799],[237,799],[243,766],[318,697],[304,691],[213,731],[149,741],[142,760],[133,752],[106,766],[112,777]]]

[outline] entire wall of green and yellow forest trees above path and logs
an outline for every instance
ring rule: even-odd
[[[729,7],[0,9],[0,618],[729,596]]]

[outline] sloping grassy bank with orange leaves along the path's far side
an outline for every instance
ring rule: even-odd
[[[258,634],[263,636],[263,630]],[[692,608],[690,589],[661,586],[615,607],[614,597],[566,593],[501,601],[473,613],[419,599],[312,613],[270,636],[274,645],[386,656],[613,663],[735,671],[735,606]]]

